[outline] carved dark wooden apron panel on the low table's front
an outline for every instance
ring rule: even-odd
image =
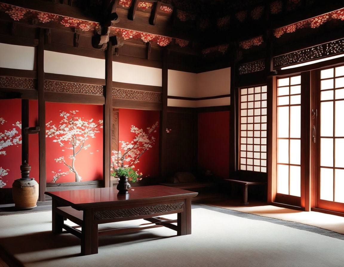
[[[95,220],[106,220],[116,218],[136,217],[143,215],[158,214],[179,210],[183,207],[184,202],[171,203],[171,204],[158,204],[155,206],[138,207],[131,209],[118,209],[118,210],[102,210],[94,213]]]

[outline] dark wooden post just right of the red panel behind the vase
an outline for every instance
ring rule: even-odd
[[[168,50],[163,51],[162,57],[162,110],[160,111],[160,151],[159,176],[166,178],[166,121],[167,121],[167,86],[168,86]]]

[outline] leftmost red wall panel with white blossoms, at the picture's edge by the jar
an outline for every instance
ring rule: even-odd
[[[11,142],[5,131],[14,128],[18,132],[13,132],[14,137],[21,136],[21,129],[15,126],[17,121],[21,123],[21,100],[0,100],[0,118],[0,188],[11,188],[14,180],[21,178],[21,144]]]

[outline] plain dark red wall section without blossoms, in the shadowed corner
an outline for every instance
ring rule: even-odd
[[[198,114],[198,167],[229,176],[229,111]]]

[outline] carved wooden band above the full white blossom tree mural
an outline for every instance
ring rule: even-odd
[[[103,95],[103,85],[86,83],[44,81],[44,90],[49,92]]]

